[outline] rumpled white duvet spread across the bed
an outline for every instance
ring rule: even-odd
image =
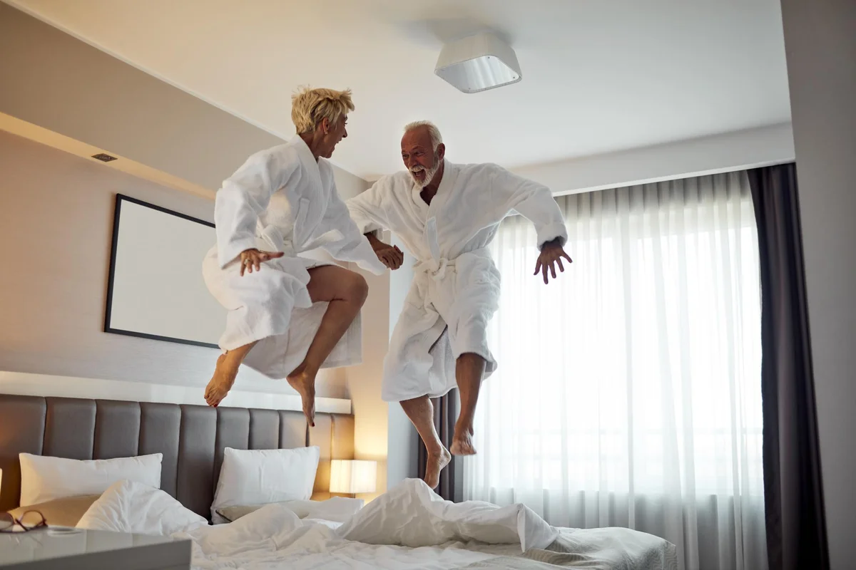
[[[79,526],[189,538],[196,570],[676,567],[675,547],[661,538],[627,529],[560,531],[523,505],[443,501],[419,479],[343,524],[300,520],[282,504],[227,525],[200,526],[195,517],[163,491],[124,481],[93,503]]]

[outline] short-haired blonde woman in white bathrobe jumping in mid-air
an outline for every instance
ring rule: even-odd
[[[226,397],[244,363],[269,378],[288,379],[314,425],[318,370],[360,360],[357,317],[366,280],[300,256],[323,247],[372,273],[385,269],[348,215],[324,160],[348,136],[353,110],[350,91],[298,92],[291,109],[297,136],[250,156],[217,191],[217,245],[205,256],[203,275],[229,313],[223,354],[205,388],[210,406]],[[334,349],[346,354],[329,359]]]

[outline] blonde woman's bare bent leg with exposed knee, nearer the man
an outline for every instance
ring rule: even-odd
[[[310,269],[309,278],[306,289],[312,303],[328,301],[330,304],[306,351],[306,357],[288,374],[288,384],[300,394],[303,414],[306,414],[309,425],[314,426],[315,376],[360,313],[363,303],[366,303],[369,286],[359,273],[333,265]]]

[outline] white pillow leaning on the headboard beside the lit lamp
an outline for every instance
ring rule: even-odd
[[[318,457],[317,445],[296,450],[223,451],[223,467],[211,504],[211,520],[227,522],[217,508],[306,501],[312,497]]]

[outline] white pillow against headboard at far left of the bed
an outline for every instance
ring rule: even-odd
[[[160,488],[162,453],[95,460],[29,453],[21,453],[18,457],[21,461],[21,505],[99,495],[122,479]]]

